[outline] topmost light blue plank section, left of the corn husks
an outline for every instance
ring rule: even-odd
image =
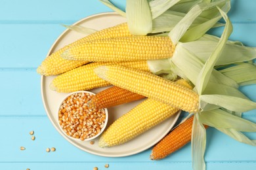
[[[85,16],[111,11],[100,1],[18,1],[0,2],[0,21],[3,23],[58,23],[80,20]]]

